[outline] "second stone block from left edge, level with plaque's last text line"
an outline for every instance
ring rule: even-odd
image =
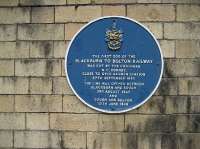
[[[15,95],[16,112],[62,112],[61,95]]]

